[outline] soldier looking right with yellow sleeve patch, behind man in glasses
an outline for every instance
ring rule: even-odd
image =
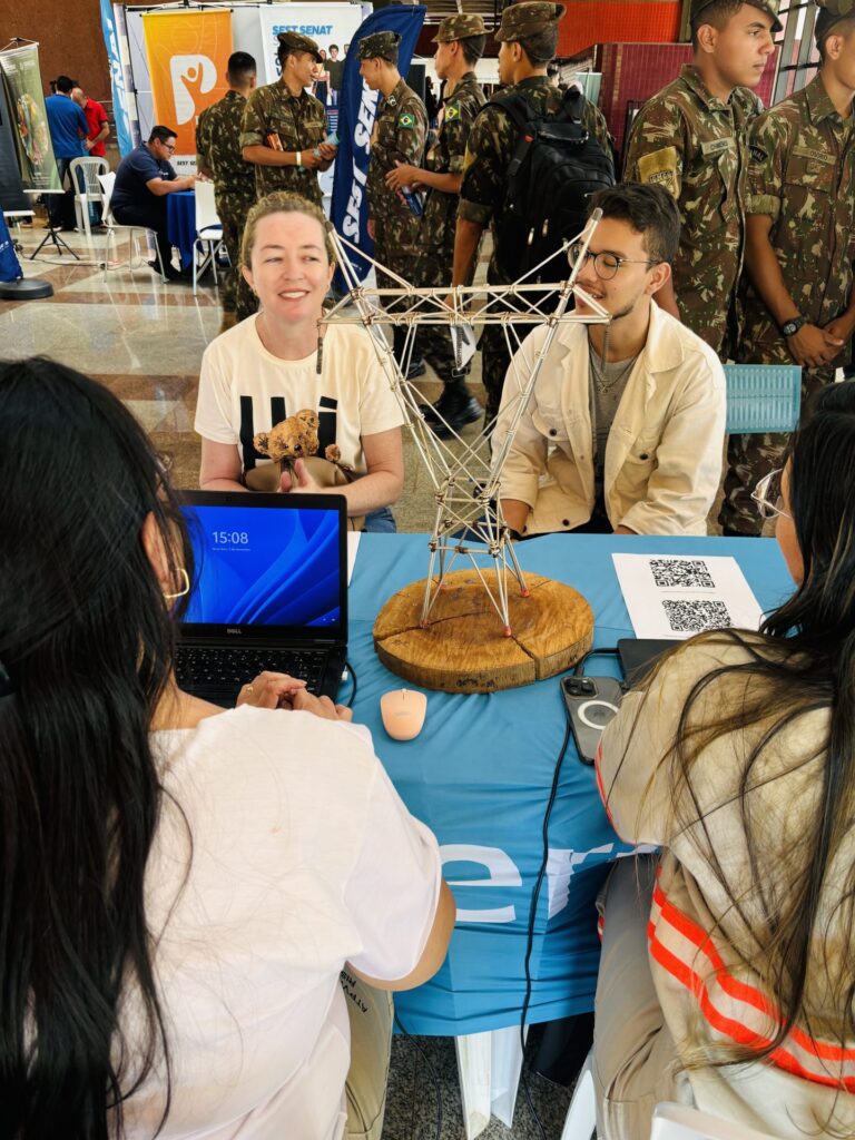
[[[748,129],[779,31],[777,0],[693,0],[694,62],[638,112],[624,178],[659,182],[683,219],[673,284],[659,304],[725,359],[736,342],[744,252]]]

